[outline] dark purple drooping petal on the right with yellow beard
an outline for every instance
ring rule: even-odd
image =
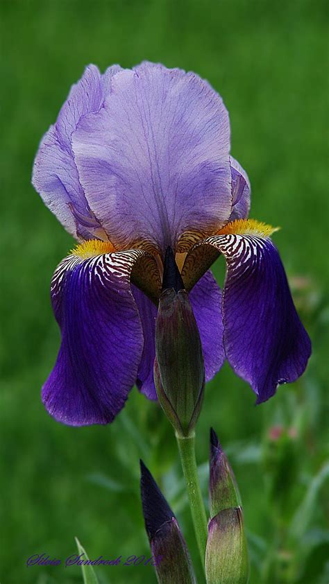
[[[226,257],[224,349],[258,403],[268,400],[278,384],[298,379],[311,352],[271,231],[256,221],[235,221],[197,244],[213,246]]]

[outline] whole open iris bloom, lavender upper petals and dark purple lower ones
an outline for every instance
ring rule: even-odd
[[[79,244],[56,269],[62,333],[42,400],[56,420],[106,424],[136,383],[151,400],[163,259],[174,250],[199,326],[205,378],[228,359],[258,402],[305,370],[301,324],[273,229],[247,220],[228,112],[194,73],[144,62],[71,88],[35,158],[33,185]],[[223,293],[209,271],[227,264]]]

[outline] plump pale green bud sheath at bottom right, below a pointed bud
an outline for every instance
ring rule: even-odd
[[[224,509],[208,525],[205,551],[207,584],[246,584],[248,556],[242,510]]]

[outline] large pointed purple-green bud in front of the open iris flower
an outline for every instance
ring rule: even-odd
[[[183,286],[168,248],[155,324],[155,388],[178,435],[189,436],[201,409],[205,368],[199,329]]]

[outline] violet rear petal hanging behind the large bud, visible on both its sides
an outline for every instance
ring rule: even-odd
[[[144,351],[138,369],[137,386],[150,400],[156,400],[153,364],[155,359],[155,318],[158,311],[153,302],[135,286],[133,286],[133,295],[140,311],[144,334]],[[209,381],[219,371],[225,359],[221,290],[212,273],[205,273],[197,282],[189,293],[189,302],[191,302],[199,328],[205,360],[205,381]]]

